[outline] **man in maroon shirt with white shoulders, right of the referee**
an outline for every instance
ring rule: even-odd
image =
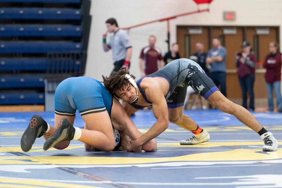
[[[146,76],[156,72],[160,67],[164,66],[164,60],[162,59],[161,50],[155,46],[156,37],[151,35],[149,37],[149,46],[146,46],[141,50],[139,66],[141,71],[141,76]],[[158,66],[158,60],[160,65]],[[145,64],[145,68],[144,65]]]

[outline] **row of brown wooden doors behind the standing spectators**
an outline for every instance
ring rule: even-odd
[[[190,27],[190,26],[189,26]],[[197,26],[199,27],[199,26]],[[209,27],[201,26],[202,34],[189,34],[187,26],[177,26],[177,43],[179,44],[179,54],[181,57],[189,58],[185,54],[193,54],[195,52],[195,44],[198,41],[204,43],[204,50],[208,51],[211,42],[209,41],[209,36],[219,37],[222,41],[222,45],[226,48],[227,59],[227,78],[226,78],[226,89],[227,97],[230,99],[241,99],[241,88],[239,86],[238,75],[236,74],[237,68],[235,67],[235,51],[242,51],[241,45],[243,42],[243,27],[236,27],[237,34],[235,35],[223,35],[222,27]],[[268,54],[268,44],[270,41],[277,41],[277,28],[270,27],[268,35],[256,35],[255,27],[246,27],[246,40],[251,43],[252,49],[254,48],[254,39],[257,39],[257,51],[258,51],[258,61],[262,62]],[[211,33],[210,33],[211,32]],[[189,39],[189,40],[185,40]],[[185,53],[186,50],[186,53]],[[189,52],[188,52],[189,51]],[[264,70],[261,66],[257,66],[256,78],[254,84],[255,99],[263,98],[266,100],[266,86],[264,79]]]

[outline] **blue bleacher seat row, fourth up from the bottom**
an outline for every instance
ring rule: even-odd
[[[48,53],[81,51],[80,42],[4,42],[0,41],[0,53]]]

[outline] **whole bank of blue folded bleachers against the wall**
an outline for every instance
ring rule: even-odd
[[[0,105],[44,104],[85,72],[90,0],[0,0]]]

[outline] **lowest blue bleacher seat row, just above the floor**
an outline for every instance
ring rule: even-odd
[[[44,93],[0,93],[0,105],[44,104]]]

